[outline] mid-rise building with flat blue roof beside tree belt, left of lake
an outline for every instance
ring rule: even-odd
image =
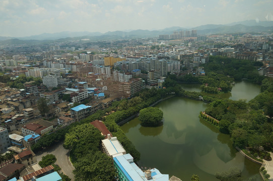
[[[71,108],[70,111],[71,117],[74,118],[75,121],[85,119],[92,114],[91,106],[85,106],[83,104]]]

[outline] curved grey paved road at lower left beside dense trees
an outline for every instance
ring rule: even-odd
[[[57,158],[55,164],[59,165],[61,171],[69,176],[72,181],[74,181],[74,174],[72,172],[74,170],[74,167],[69,160],[69,150],[64,149],[62,144],[62,142],[58,143],[43,153],[37,153],[37,162],[41,161],[42,156],[45,156],[47,154],[55,155]]]

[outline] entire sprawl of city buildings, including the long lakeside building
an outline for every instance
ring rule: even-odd
[[[8,81],[37,77],[42,83],[35,79],[18,87],[1,83],[0,152],[16,155],[15,163],[1,164],[0,178],[9,180],[19,170],[19,180],[33,176],[39,180],[40,172],[60,180],[52,166],[37,164],[31,150],[37,140],[108,108],[114,101],[130,99],[143,88],[165,88],[168,74],[206,75],[203,65],[210,56],[261,62],[259,71],[273,77],[272,46],[272,36],[266,33],[198,36],[196,30],[146,39],[1,46],[2,77],[8,76]],[[45,99],[49,108],[44,115],[37,107],[40,99]],[[104,126],[99,121],[91,124]],[[101,130],[105,132],[102,147],[113,158],[120,180],[130,180],[128,174],[132,180],[179,180],[156,168],[142,170],[107,131],[106,127]],[[23,171],[28,166],[32,171]]]

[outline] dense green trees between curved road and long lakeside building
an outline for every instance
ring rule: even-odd
[[[76,180],[114,180],[112,159],[100,150],[102,139],[90,123],[78,125],[65,135],[63,147],[71,149]]]

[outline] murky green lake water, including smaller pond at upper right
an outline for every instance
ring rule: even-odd
[[[198,91],[196,84],[186,86],[188,91]],[[237,82],[229,98],[249,101],[259,94],[259,88],[246,81]],[[122,125],[121,129],[141,152],[138,164],[156,167],[161,173],[183,181],[190,180],[192,174],[197,174],[200,180],[218,180],[214,174],[231,167],[240,168],[244,180],[250,177],[262,180],[259,164],[241,155],[232,146],[229,135],[198,118],[207,106],[201,101],[174,97],[155,106],[164,113],[163,126],[142,127],[138,118]]]

